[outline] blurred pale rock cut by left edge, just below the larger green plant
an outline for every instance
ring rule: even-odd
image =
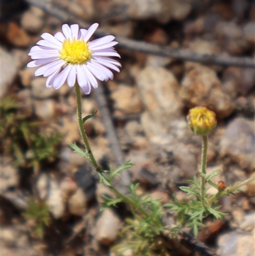
[[[16,188],[18,186],[18,180],[18,170],[13,167],[13,160],[7,156],[1,156],[1,193],[8,190],[8,188]]]

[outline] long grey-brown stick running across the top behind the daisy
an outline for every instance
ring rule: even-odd
[[[57,17],[62,22],[70,22],[80,24],[82,27],[89,27],[89,23],[84,20],[77,19],[70,15],[67,11],[61,10],[59,6],[55,6],[49,1],[40,0],[25,0],[29,4],[33,4],[38,8],[50,13],[54,17]],[[102,29],[97,29],[96,36],[106,35]],[[209,54],[198,54],[196,52],[190,52],[189,50],[183,49],[171,49],[170,47],[164,47],[159,45],[153,45],[144,41],[131,40],[129,38],[116,36],[116,40],[119,42],[120,47],[124,47],[129,50],[135,50],[138,52],[145,52],[148,54],[154,54],[157,56],[171,57],[173,59],[179,59],[181,61],[193,61],[196,63],[203,64],[215,64],[219,66],[239,66],[245,68],[255,68],[255,59],[251,57],[232,57],[222,55],[209,55]]]

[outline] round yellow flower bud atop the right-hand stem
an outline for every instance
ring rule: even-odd
[[[187,115],[187,123],[196,135],[208,135],[214,130],[217,121],[214,112],[206,107],[193,107]]]

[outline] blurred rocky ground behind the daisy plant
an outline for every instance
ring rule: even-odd
[[[131,159],[135,166],[126,177],[140,183],[140,193],[163,197],[163,203],[172,193],[182,199],[178,186],[198,174],[201,153],[201,138],[189,130],[186,114],[203,105],[218,121],[209,138],[208,172],[222,169],[216,181],[229,185],[254,175],[255,72],[254,65],[242,65],[247,58],[255,64],[254,1],[2,0],[2,255],[113,256],[110,248],[122,242],[117,232],[128,209],[99,211],[102,195],[110,192],[69,147],[82,146],[74,90],[67,84],[47,89],[46,79],[26,67],[42,33],[94,22],[94,38],[120,38],[122,64],[113,80],[82,98],[84,116],[98,111],[85,130],[103,168]],[[159,56],[144,42],[169,47],[175,56]],[[215,63],[217,56],[225,63]],[[230,214],[208,219],[200,240],[221,256],[253,255],[254,193],[250,184],[223,198],[221,209]],[[192,249],[175,253],[199,255]]]

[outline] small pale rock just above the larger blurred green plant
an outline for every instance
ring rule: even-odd
[[[55,116],[55,100],[34,100],[34,111],[43,120],[52,119]]]

